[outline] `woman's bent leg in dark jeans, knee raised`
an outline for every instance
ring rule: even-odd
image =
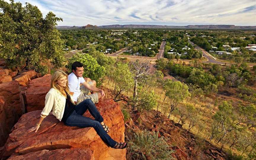
[[[103,122],[103,117],[100,115],[100,112],[97,110],[91,99],[85,99],[83,102],[75,106],[75,110],[78,115],[83,115],[87,109],[95,120],[100,123]]]

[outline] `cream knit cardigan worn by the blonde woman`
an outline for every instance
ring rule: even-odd
[[[71,103],[74,103],[73,97],[70,95]],[[63,96],[58,90],[51,88],[45,96],[44,109],[41,112],[41,115],[49,115],[52,111],[52,114],[61,121],[66,104],[66,97]]]

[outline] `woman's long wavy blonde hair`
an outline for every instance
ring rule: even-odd
[[[51,79],[51,88],[57,89],[58,91],[60,91],[61,94],[63,94],[66,97],[67,96],[66,92],[68,94],[70,94],[69,89],[68,89],[68,81],[67,81],[67,84],[65,87],[57,84],[57,80],[59,80],[63,77],[67,77],[67,79],[68,79],[68,75],[64,71],[61,71],[61,70],[55,71],[54,74],[52,75],[52,79]]]

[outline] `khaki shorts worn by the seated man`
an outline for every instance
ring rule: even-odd
[[[92,85],[92,81],[89,81],[88,84]],[[81,94],[77,98],[76,105],[83,102],[85,99],[91,99],[94,104],[99,102],[98,93],[89,94],[90,90],[85,88],[83,85],[80,87],[80,91],[81,91]]]

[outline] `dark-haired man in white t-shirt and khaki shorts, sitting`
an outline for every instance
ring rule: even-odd
[[[83,102],[85,99],[91,99],[93,103],[98,103],[99,99],[105,96],[102,89],[96,87],[96,81],[89,81],[91,79],[87,78],[84,80],[84,65],[81,62],[74,62],[72,64],[72,73],[68,75],[68,88],[73,95],[73,99],[76,104]],[[80,84],[82,86],[80,87]],[[92,91],[92,94],[88,93]]]

